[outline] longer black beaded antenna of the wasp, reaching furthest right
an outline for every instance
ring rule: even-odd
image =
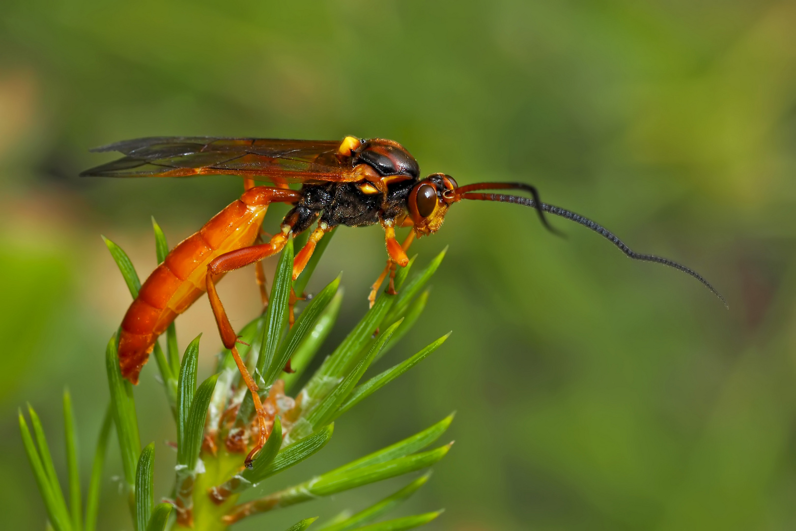
[[[708,290],[712,292],[713,295],[716,295],[722,303],[724,303],[724,307],[729,310],[730,306],[727,303],[727,299],[716,291],[716,288],[712,286],[707,280],[704,279],[702,275],[690,269],[689,267],[685,267],[682,264],[677,264],[673,260],[669,260],[668,258],[662,258],[661,256],[654,256],[654,255],[642,255],[638,252],[635,252],[633,249],[627,247],[627,245],[622,241],[619,240],[617,236],[607,228],[603,227],[602,225],[596,224],[594,221],[591,221],[587,217],[583,217],[580,214],[576,214],[567,209],[561,209],[554,205],[548,205],[547,203],[542,203],[534,201],[533,199],[529,199],[528,197],[519,197],[513,195],[507,195],[505,193],[462,193],[462,199],[474,199],[478,201],[498,201],[501,203],[514,203],[516,205],[524,205],[529,206],[532,209],[541,209],[544,212],[554,214],[556,216],[565,217],[569,221],[575,221],[584,227],[591,228],[594,232],[597,232],[600,236],[603,236],[606,240],[611,241],[611,243],[615,244],[620,251],[624,252],[626,256],[632,258],[633,260],[642,260],[643,262],[655,262],[657,264],[663,264],[669,267],[674,267],[679,271],[683,271],[686,275],[691,275],[695,279],[699,280],[704,287],[707,287]]]

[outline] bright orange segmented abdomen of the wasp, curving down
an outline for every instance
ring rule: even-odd
[[[158,336],[207,291],[207,264],[225,252],[254,243],[267,205],[236,200],[182,240],[144,281],[122,321],[119,365],[122,376],[137,384]]]

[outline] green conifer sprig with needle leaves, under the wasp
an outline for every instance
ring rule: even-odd
[[[160,264],[166,259],[169,248],[166,237],[154,218],[152,225]],[[439,439],[447,430],[453,419],[452,415],[399,443],[316,475],[305,482],[250,502],[238,502],[240,495],[254,486],[266,484],[272,476],[321,451],[334,434],[334,420],[417,365],[438,349],[450,335],[444,335],[411,357],[362,383],[365,373],[373,363],[392,349],[419,319],[429,297],[429,291],[424,287],[439,267],[445,251],[421,271],[410,276],[412,265],[416,261],[416,256],[413,256],[408,266],[399,268],[396,273],[395,285],[399,294],[382,293],[373,308],[365,313],[318,369],[306,378],[302,388],[295,395],[288,395],[302,381],[306,369],[310,367],[334,327],[341,307],[343,292],[341,277],[338,275],[306,303],[295,324],[292,327],[287,326],[287,303],[291,288],[298,295],[302,295],[330,236],[327,235],[318,244],[310,264],[295,281],[292,280],[293,243],[291,241],[286,245],[279,257],[266,313],[240,330],[241,341],[249,345],[241,347],[241,355],[255,374],[261,387],[260,395],[270,408],[271,415],[268,420],[270,433],[267,443],[259,451],[252,468],[243,467],[243,458],[251,441],[256,439],[258,428],[251,398],[230,353],[220,353],[214,374],[197,387],[200,338],[195,338],[189,344],[180,359],[174,324],[166,330],[166,353],[158,342],[155,343],[153,352],[164,385],[166,404],[177,424],[178,452],[171,494],[174,497],[173,502],[159,505],[154,503],[154,444],[150,443],[143,449],[141,447],[133,387],[123,379],[119,370],[116,335],[111,337],[106,349],[111,402],[96,443],[84,514],[80,513],[80,478],[76,464],[76,426],[71,396],[64,393],[68,498],[60,490],[49,447],[36,413],[33,408],[29,408],[33,425],[31,434],[25,417],[20,412],[20,430],[25,451],[45,501],[49,525],[53,529],[96,529],[96,516],[100,507],[100,480],[111,425],[115,426],[118,435],[123,477],[136,531],[164,531],[173,527],[190,526],[209,531],[226,529],[228,525],[254,514],[423,470],[447,455],[452,443],[430,451],[424,448]],[[129,256],[111,240],[103,240],[135,298],[141,283]],[[287,360],[291,360],[295,373],[283,371]],[[238,446],[231,444],[232,442],[238,443]],[[377,523],[373,521],[412,496],[429,477],[430,473],[427,472],[414,478],[387,498],[357,513],[345,513],[327,522],[321,529],[395,531],[423,525],[438,517],[441,511]],[[316,519],[306,518],[287,531],[307,529]]]

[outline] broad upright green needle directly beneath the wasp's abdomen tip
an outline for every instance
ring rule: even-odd
[[[119,354],[116,352],[115,336],[107,343],[105,369],[107,369],[108,387],[111,389],[113,420],[119,439],[124,478],[127,485],[130,486],[131,492],[134,492],[135,467],[138,464],[141,451],[141,439],[139,439],[139,423],[135,415],[133,386],[122,377],[119,369]]]

